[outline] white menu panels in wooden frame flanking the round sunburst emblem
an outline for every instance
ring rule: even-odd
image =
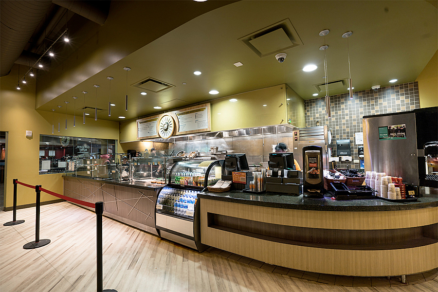
[[[206,103],[137,120],[137,139],[158,138],[158,121],[163,115],[170,115],[175,120],[174,135],[201,133],[211,130],[210,103]]]

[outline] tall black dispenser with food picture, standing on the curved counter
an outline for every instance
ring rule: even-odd
[[[303,147],[304,197],[324,198],[324,177],[321,146]]]

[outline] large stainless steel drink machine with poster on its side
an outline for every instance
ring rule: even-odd
[[[438,107],[363,117],[365,171],[438,188]]]

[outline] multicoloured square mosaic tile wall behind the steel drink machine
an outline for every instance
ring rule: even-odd
[[[350,139],[351,155],[358,159],[355,145],[355,133],[362,132],[362,117],[374,114],[401,112],[420,108],[418,82],[391,85],[377,91],[365,90],[353,93],[350,100],[348,93],[330,96],[331,118],[326,116],[324,98],[304,101],[306,127],[328,125],[332,130],[332,156],[336,156],[336,140]],[[338,162],[338,168],[359,168],[353,162]]]

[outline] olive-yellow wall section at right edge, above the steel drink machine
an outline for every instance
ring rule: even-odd
[[[424,67],[415,81],[420,92],[420,107],[438,106],[438,51]]]

